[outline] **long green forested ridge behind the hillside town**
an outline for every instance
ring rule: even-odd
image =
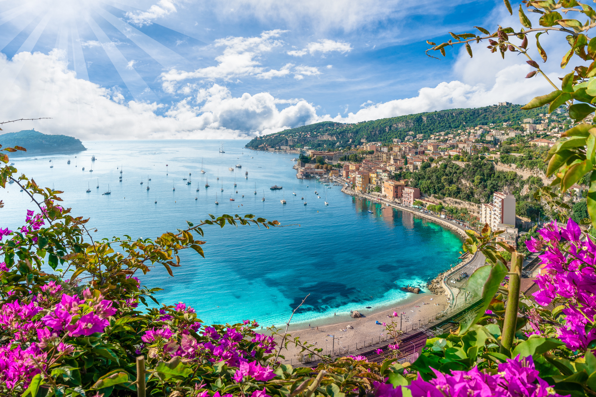
[[[265,146],[286,146],[301,143],[312,148],[322,146],[344,147],[359,145],[361,142],[392,142],[393,138],[402,139],[408,132],[431,134],[445,130],[464,129],[494,123],[500,126],[504,121],[511,121],[512,127],[519,126],[524,118],[537,118],[538,114],[546,113],[547,107],[532,110],[521,110],[523,105],[488,106],[473,109],[451,109],[418,114],[408,114],[399,117],[381,118],[379,120],[364,121],[356,124],[334,123],[323,121],[282,132],[255,138],[247,143],[247,148],[258,149]],[[307,137],[310,133],[310,137]],[[352,142],[350,143],[350,139]],[[339,145],[337,145],[339,143]]]

